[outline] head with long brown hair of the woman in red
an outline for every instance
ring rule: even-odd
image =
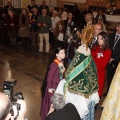
[[[108,48],[108,35],[106,32],[98,34],[98,45],[104,50]]]

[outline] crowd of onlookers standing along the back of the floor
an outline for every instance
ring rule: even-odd
[[[0,26],[7,29],[9,45],[16,45],[16,42],[21,40],[23,46],[39,46],[39,51],[43,52],[45,40],[45,52],[48,53],[50,46],[54,48],[55,44],[66,45],[65,41],[75,27],[84,28],[87,13],[92,13],[88,5],[80,12],[77,5],[74,11],[69,11],[67,8],[49,8],[45,0],[42,1],[42,5],[37,6],[35,0],[31,0],[31,4],[22,8],[19,15],[16,14],[11,1],[8,1],[0,15]],[[100,24],[106,23],[105,20],[102,12],[95,18],[95,22],[100,21]]]

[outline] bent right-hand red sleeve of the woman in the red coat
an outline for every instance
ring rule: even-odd
[[[104,57],[104,59],[101,61],[101,63],[99,65],[96,64],[98,71],[103,70],[107,66],[107,64],[110,60],[110,57],[111,57],[111,51],[107,50],[103,57]]]

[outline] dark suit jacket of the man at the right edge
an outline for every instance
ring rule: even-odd
[[[110,50],[112,51],[111,57],[115,61],[120,62],[120,40],[117,42],[117,44],[113,50],[115,35],[116,35],[116,33],[109,34],[109,45],[110,45]]]

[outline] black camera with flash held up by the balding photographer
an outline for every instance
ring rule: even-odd
[[[17,116],[15,117],[14,120],[17,119],[18,115],[19,115],[19,110],[20,110],[20,104],[17,103],[18,100],[24,100],[24,97],[22,95],[21,92],[17,92],[15,95],[13,95],[13,89],[14,86],[17,84],[17,80],[16,79],[10,79],[10,80],[5,80],[3,82],[3,93],[9,97],[9,99],[11,100],[11,109],[10,109],[10,113],[12,116],[14,116],[14,110],[13,110],[13,105],[16,106],[17,108]]]

